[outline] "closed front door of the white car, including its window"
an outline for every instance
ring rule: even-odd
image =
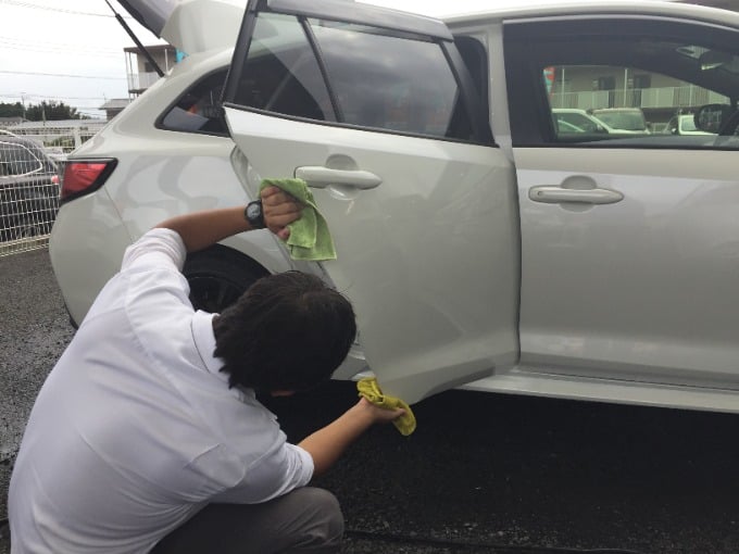
[[[505,23],[521,364],[736,390],[739,140],[674,136],[667,122],[736,111],[739,17],[665,10]],[[565,135],[551,125],[561,108],[641,111],[651,129]]]

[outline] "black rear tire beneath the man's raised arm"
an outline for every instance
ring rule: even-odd
[[[183,274],[196,310],[220,313],[267,272],[253,260],[216,244],[187,256]]]

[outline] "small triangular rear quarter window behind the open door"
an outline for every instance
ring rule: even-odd
[[[221,116],[221,95],[226,74],[227,68],[224,68],[196,83],[164,113],[158,127],[186,133],[227,135],[228,129]]]

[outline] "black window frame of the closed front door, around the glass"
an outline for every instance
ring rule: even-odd
[[[587,58],[591,55],[590,49],[584,48],[584,46],[590,39],[612,38],[627,43],[629,37],[651,37],[655,40],[674,39],[703,47],[718,48],[731,51],[737,55],[739,54],[737,47],[729,47],[729,45],[737,43],[739,29],[700,21],[687,22],[664,16],[593,14],[578,17],[511,21],[504,24],[503,36],[511,136],[514,148],[737,150],[736,147],[729,148],[718,143],[711,147],[691,144],[690,141],[686,140],[650,143],[648,140],[639,140],[639,138],[644,139],[644,137],[613,139],[609,138],[608,135],[603,137],[589,136],[589,140],[586,142],[562,140],[562,137],[556,136],[551,118],[551,108],[541,78],[541,67],[555,64],[575,65],[578,61],[587,59],[587,62],[583,61],[581,63],[629,66],[635,70],[662,73],[687,80],[685,75],[668,73],[661,67],[638,65],[634,63],[634,59],[630,59],[623,51],[615,52],[608,59],[592,60]],[[561,46],[558,51],[556,45],[564,45],[565,41],[568,41],[571,46]],[[563,58],[563,51],[572,48],[573,43],[578,43],[578,55],[581,56],[579,60]],[[553,49],[555,53],[552,56]],[[536,86],[533,86],[534,84]],[[707,88],[705,83],[700,86]],[[739,87],[736,90],[728,88],[712,88],[711,90],[727,96],[735,109],[737,108]],[[729,92],[734,92],[734,95]]]

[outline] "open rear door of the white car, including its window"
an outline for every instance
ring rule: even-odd
[[[311,187],[338,253],[323,270],[386,393],[415,402],[515,362],[515,176],[443,24],[250,2],[224,106],[251,194]]]

